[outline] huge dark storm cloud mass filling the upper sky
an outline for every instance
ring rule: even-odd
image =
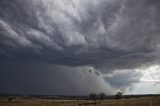
[[[0,58],[134,68],[156,60],[159,1],[1,0]]]

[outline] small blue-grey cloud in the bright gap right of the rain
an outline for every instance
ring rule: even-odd
[[[116,70],[110,74],[106,74],[104,77],[114,88],[125,90],[134,83],[140,82],[142,73],[134,70]]]

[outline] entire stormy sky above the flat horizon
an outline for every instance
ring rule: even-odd
[[[159,0],[0,0],[0,92],[160,93]]]

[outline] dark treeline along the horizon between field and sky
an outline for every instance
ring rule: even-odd
[[[5,94],[0,93],[0,97],[7,97],[8,101],[13,99],[51,99],[51,100],[104,100],[104,99],[130,99],[130,98],[141,98],[141,97],[160,97],[160,94],[150,95],[122,95],[121,92],[117,92],[115,95],[106,95],[105,93],[90,93],[86,96],[66,96],[66,95],[16,95],[16,94]]]

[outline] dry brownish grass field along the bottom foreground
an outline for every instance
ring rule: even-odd
[[[0,98],[0,106],[160,106],[160,98],[142,97],[119,100],[48,100],[48,99],[22,99],[16,98],[8,101]]]

